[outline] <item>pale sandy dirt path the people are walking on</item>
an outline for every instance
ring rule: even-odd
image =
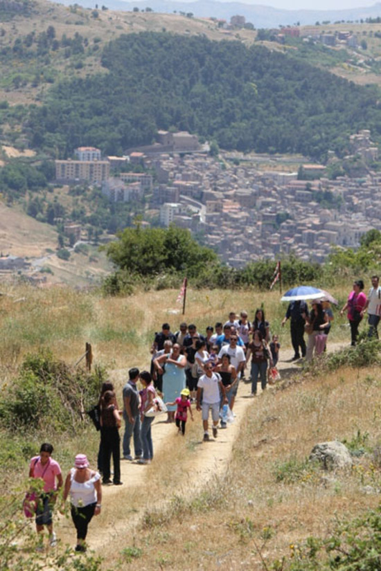
[[[332,352],[340,347],[342,347],[342,344],[331,344],[328,350]],[[281,359],[278,361],[278,370],[281,372],[282,380],[292,377],[301,370],[300,365],[297,364],[298,362],[292,362],[293,354],[292,349],[282,349]],[[125,378],[126,374],[127,370],[114,372],[114,381]],[[196,455],[191,455],[190,462],[184,466],[186,487],[188,489],[192,489],[196,484],[197,489],[200,489],[202,484],[205,484],[211,478],[215,478],[216,475],[221,475],[227,470],[231,450],[240,430],[240,424],[245,422],[247,407],[255,406],[257,399],[260,399],[260,392],[260,383],[258,383],[258,396],[256,398],[251,397],[251,383],[241,381],[234,406],[234,413],[236,415],[235,422],[226,430],[219,430],[217,439],[211,439],[210,442],[202,442],[203,430],[201,415],[200,413],[195,413],[195,424],[198,424],[200,427],[200,442],[197,442]],[[161,419],[155,420],[152,424],[152,439],[155,455],[157,455],[164,446],[168,446],[168,442],[173,442],[175,430],[174,424],[166,424],[166,422],[163,422]],[[177,440],[176,442],[179,441]],[[186,442],[184,441],[184,457],[186,457],[185,444]],[[87,541],[91,548],[96,550],[97,554],[103,554],[104,550],[109,547],[110,541],[122,542],[121,547],[123,547],[125,539],[130,535],[132,529],[136,527],[136,523],[141,519],[148,506],[143,502],[139,511],[134,514],[129,513],[127,508],[129,505],[129,496],[131,493],[136,493],[137,489],[144,488],[145,483],[148,481],[148,475],[150,478],[154,477],[154,461],[150,466],[142,466],[137,464],[137,462],[122,461],[121,479],[123,486],[103,487],[103,509],[108,509],[109,512],[110,510],[114,511],[114,514],[112,514],[112,518],[108,518],[108,520],[112,520],[112,524],[105,525],[102,516],[99,516],[98,518],[94,518],[89,526]],[[173,487],[171,486],[171,493],[178,491],[181,485],[184,485],[184,481],[182,484],[181,482],[174,481]],[[72,545],[75,532],[71,520],[60,518],[58,530],[62,541]]]

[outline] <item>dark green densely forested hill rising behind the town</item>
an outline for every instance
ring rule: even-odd
[[[175,127],[224,149],[319,159],[328,149],[345,154],[358,129],[380,140],[378,89],[261,46],[141,33],[110,42],[102,63],[109,73],[57,84],[31,110],[33,147],[119,154]]]

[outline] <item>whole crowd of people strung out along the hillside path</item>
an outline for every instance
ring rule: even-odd
[[[378,275],[371,278],[369,295],[364,293],[364,282],[353,282],[353,290],[342,307],[351,327],[351,345],[356,345],[359,325],[368,314],[368,336],[378,338],[381,316],[381,287]],[[333,311],[328,300],[312,300],[308,310],[304,300],[293,300],[287,307],[281,325],[290,320],[294,356],[292,361],[313,356],[326,349],[326,340],[333,322]],[[305,343],[304,335],[308,340]],[[39,455],[30,460],[30,478],[42,480],[42,489],[35,503],[35,523],[39,538],[37,550],[43,547],[44,527],[48,529],[51,547],[57,544],[53,531],[53,507],[57,493],[63,487],[62,507],[71,501],[71,518],[76,527],[76,552],[86,551],[87,529],[91,519],[100,514],[102,486],[122,485],[121,460],[136,460],[149,464],[154,458],[152,422],[156,415],[166,412],[166,422],[175,422],[177,433],[185,435],[188,418],[193,421],[193,408],[202,413],[203,440],[218,437],[220,428],[227,428],[240,381],[251,382],[251,395],[257,394],[260,380],[262,390],[267,387],[269,368],[278,363],[281,345],[277,334],[270,334],[269,322],[263,308],[256,310],[252,322],[247,311],[240,316],[231,311],[225,323],[206,327],[205,334],[193,323],[181,323],[172,333],[163,323],[161,332],[154,335],[150,371],[130,368],[123,387],[120,410],[114,386],[103,383],[98,402],[100,445],[98,470],[93,470],[85,454],[78,454],[73,468],[62,478],[60,465],[51,457],[53,446],[42,444]],[[249,371],[249,378],[245,374]],[[138,383],[141,388],[139,390]],[[165,403],[165,404],[164,404]],[[209,416],[211,415],[211,433]],[[121,428],[124,422],[121,455]],[[132,453],[133,443],[133,453]],[[111,468],[113,460],[113,471]],[[111,479],[112,478],[112,479]]]

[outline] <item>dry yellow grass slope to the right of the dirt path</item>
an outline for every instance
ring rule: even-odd
[[[148,473],[152,517],[145,514],[141,525],[135,520],[133,532],[118,529],[118,553],[112,543],[107,555],[110,568],[123,547],[135,545],[142,554],[129,564],[132,570],[263,569],[261,557],[269,565],[303,538],[327,536],[336,516],[352,518],[376,507],[380,474],[369,459],[358,460],[348,473],[311,467],[290,484],[276,482],[274,475],[276,464],[290,457],[304,460],[317,442],[350,440],[357,430],[369,431],[369,444],[380,442],[380,422],[373,422],[380,411],[378,381],[365,380],[375,373],[342,370],[263,395],[247,409],[229,471],[219,478],[211,474],[209,483],[200,480],[197,486],[186,471],[178,473],[178,456],[168,442],[161,469],[152,465]],[[169,478],[174,498],[158,514],[155,507],[168,496]],[[141,487],[144,495],[143,482]]]

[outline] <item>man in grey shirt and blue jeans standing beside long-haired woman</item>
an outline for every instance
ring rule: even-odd
[[[136,383],[139,381],[139,369],[132,368],[128,372],[129,380],[123,387],[123,419],[125,433],[123,436],[123,459],[132,460],[130,442],[134,435],[134,451],[137,459],[141,458],[143,448],[140,435],[139,392]]]

